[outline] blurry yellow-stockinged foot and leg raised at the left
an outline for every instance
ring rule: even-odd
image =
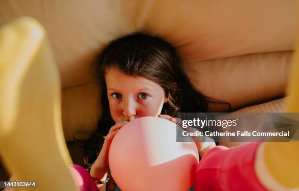
[[[0,95],[0,156],[9,174],[36,181],[36,191],[76,191],[62,131],[59,73],[35,19],[0,29]]]

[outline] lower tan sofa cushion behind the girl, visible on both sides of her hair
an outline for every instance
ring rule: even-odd
[[[197,89],[206,96],[229,102],[232,109],[284,96],[293,51],[259,53],[185,64]],[[67,140],[77,132],[96,129],[100,113],[98,87],[86,83],[63,89],[63,125]],[[211,112],[225,111],[214,104]],[[76,137],[86,134],[76,134]]]

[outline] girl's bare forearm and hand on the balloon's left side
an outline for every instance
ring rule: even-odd
[[[109,167],[108,155],[111,145],[111,141],[114,138],[115,134],[126,124],[128,121],[117,122],[113,125],[107,136],[103,147],[98,155],[98,158],[94,161],[90,169],[90,175],[97,180],[105,180],[107,177],[107,170]]]

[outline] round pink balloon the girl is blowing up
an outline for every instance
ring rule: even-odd
[[[176,142],[176,124],[141,117],[124,125],[109,150],[111,174],[122,191],[188,191],[199,162],[194,142]]]

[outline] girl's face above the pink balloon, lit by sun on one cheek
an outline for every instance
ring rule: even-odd
[[[163,88],[144,77],[128,76],[112,68],[105,79],[110,113],[115,122],[157,116],[168,101]]]

